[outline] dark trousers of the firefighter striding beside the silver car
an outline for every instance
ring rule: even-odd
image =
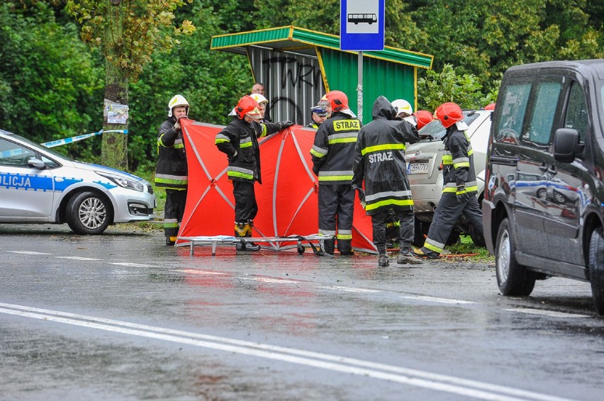
[[[482,212],[476,195],[473,193],[467,202],[459,203],[457,196],[443,194],[434,218],[432,218],[424,247],[440,254],[444,245],[447,244],[447,239],[451,235],[455,223],[462,214],[483,235]]]

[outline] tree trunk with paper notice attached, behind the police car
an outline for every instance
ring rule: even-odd
[[[105,32],[105,104],[103,130],[128,130],[128,120],[124,123],[108,122],[108,107],[112,103],[128,106],[128,74],[114,64],[123,55],[118,49],[122,46],[123,18],[122,6],[110,6],[107,19],[111,21]],[[128,135],[119,132],[104,132],[101,145],[101,162],[115,169],[128,169]]]

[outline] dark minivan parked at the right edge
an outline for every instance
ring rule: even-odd
[[[484,237],[501,293],[576,278],[591,283],[604,315],[604,60],[505,72],[485,181]]]

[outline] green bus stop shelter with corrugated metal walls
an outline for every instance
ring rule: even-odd
[[[340,50],[340,37],[295,26],[215,35],[211,50],[246,55],[252,76],[264,84],[273,121],[311,122],[311,107],[328,91],[343,91],[357,110],[358,53]],[[386,46],[363,52],[363,123],[375,99],[404,98],[417,109],[418,68],[432,55]]]

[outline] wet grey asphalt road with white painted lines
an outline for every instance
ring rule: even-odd
[[[0,400],[603,399],[588,283],[162,242],[0,225]]]

